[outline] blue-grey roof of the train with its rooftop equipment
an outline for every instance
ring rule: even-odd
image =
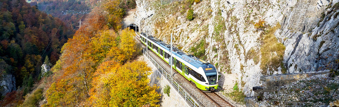
[[[146,34],[145,33],[141,33],[142,36],[146,37]],[[147,36],[149,40],[157,43],[158,45],[160,45],[161,47],[165,48],[167,51],[170,50],[171,48],[171,45],[161,41],[160,39],[158,38],[155,38],[153,36],[150,36],[148,35]],[[195,66],[196,68],[199,68],[199,67],[202,67],[202,68],[207,68],[207,66],[213,66],[212,64],[202,60],[202,59],[199,59],[191,54],[188,54],[180,49],[178,49],[177,47],[173,46],[173,52],[172,54],[178,56],[179,58],[183,59],[184,61],[192,64],[193,66]],[[206,71],[205,71],[206,72]]]

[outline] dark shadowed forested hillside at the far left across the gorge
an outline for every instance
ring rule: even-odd
[[[18,88],[18,98],[22,98],[40,80],[46,56],[52,64],[57,62],[72,30],[64,24],[59,27],[59,18],[40,12],[25,0],[0,0],[0,11],[0,80],[13,75],[16,87],[12,90]],[[8,91],[5,85],[0,87],[1,100]]]

